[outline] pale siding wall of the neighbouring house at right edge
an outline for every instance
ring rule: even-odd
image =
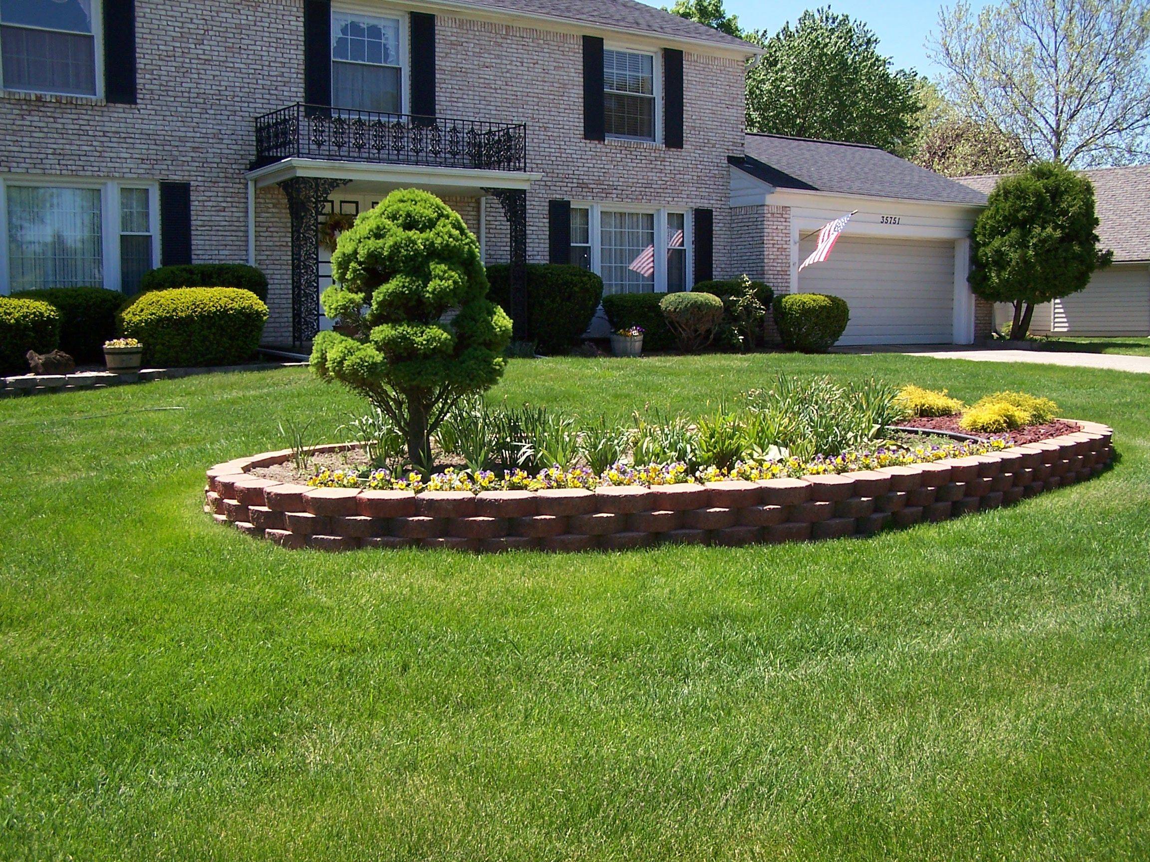
[[[1055,300],[1051,330],[1068,336],[1150,336],[1150,269],[1113,265],[1095,272],[1084,291]]]

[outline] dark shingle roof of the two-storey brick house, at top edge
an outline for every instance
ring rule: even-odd
[[[760,53],[750,43],[727,36],[710,26],[681,18],[637,0],[448,0],[447,6],[475,6],[528,17],[561,18],[608,30],[651,33],[704,43],[723,48]]]

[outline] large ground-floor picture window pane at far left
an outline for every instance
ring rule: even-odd
[[[103,285],[99,188],[8,187],[13,291]]]

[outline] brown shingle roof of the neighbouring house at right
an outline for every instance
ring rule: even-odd
[[[1150,166],[1079,171],[1094,183],[1098,239],[1116,261],[1150,260]],[[990,193],[1000,175],[960,177],[971,188]]]

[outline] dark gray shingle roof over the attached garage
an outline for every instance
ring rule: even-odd
[[[862,144],[747,134],[750,162],[738,164],[780,188],[803,188],[874,198],[902,198],[982,206],[987,195],[912,164],[884,149]],[[752,162],[758,162],[756,167]],[[762,168],[767,168],[764,171]],[[774,176],[774,179],[769,177]]]

